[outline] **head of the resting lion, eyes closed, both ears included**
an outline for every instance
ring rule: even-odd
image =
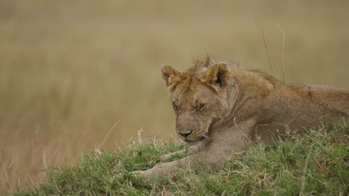
[[[210,127],[229,112],[227,63],[207,57],[183,73],[169,65],[161,69],[176,113],[176,132],[189,145],[209,136]]]

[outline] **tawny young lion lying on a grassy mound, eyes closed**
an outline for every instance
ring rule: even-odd
[[[288,130],[331,126],[349,114],[349,90],[292,85],[209,56],[183,73],[164,65],[161,74],[176,114],[176,132],[189,148],[161,157],[168,161],[184,154],[180,160],[134,172],[145,177],[170,174],[197,160],[216,167],[244,151],[248,140],[280,141]]]

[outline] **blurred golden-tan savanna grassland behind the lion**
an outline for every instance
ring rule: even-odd
[[[0,1],[0,187],[137,136],[174,135],[160,68],[206,53],[349,88],[348,1]]]

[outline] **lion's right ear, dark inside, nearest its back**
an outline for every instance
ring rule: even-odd
[[[218,63],[208,68],[206,72],[206,83],[215,87],[217,90],[222,89],[228,83],[229,69],[227,63]]]

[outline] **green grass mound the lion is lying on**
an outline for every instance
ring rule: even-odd
[[[115,152],[88,153],[75,166],[50,167],[48,178],[13,195],[348,195],[349,123],[288,135],[277,145],[246,144],[246,153],[218,170],[197,162],[175,174],[145,180],[145,170],[180,142],[141,139]],[[180,158],[180,157],[176,157]]]

